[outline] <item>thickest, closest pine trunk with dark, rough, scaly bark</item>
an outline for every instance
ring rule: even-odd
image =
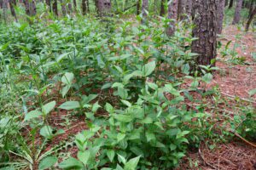
[[[195,27],[192,33],[198,39],[192,42],[191,51],[199,54],[197,65],[211,65],[211,60],[216,58],[217,5],[218,0],[201,0],[193,4]]]

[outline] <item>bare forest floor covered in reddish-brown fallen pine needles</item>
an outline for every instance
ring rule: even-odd
[[[237,35],[240,35],[241,38],[237,39]],[[256,107],[256,96],[249,97],[248,94],[250,90],[256,88],[256,62],[253,60],[253,52],[256,52],[256,34],[239,31],[236,26],[227,26],[224,28],[224,33],[219,37],[219,40],[223,46],[231,41],[230,48],[233,48],[235,44],[239,44],[235,48],[236,57],[244,57],[245,61],[243,63],[245,64],[230,64],[228,62],[229,59],[223,58],[218,54],[216,66],[219,71],[214,73],[214,78],[211,83],[207,84],[207,88],[218,85],[221,96],[229,99],[230,104],[232,104],[233,100],[240,99],[245,101],[245,105],[251,103]],[[219,51],[222,51],[222,49]],[[64,100],[57,103],[60,105],[62,102]],[[231,112],[230,117],[236,114],[234,107],[224,108],[224,111]],[[69,116],[72,116],[72,119],[69,119]],[[47,150],[50,149],[52,144],[60,144],[60,141],[71,141],[70,138],[73,135],[87,128],[84,116],[73,116],[72,114],[67,114],[67,111],[64,110],[53,112],[50,120],[50,124],[55,127],[61,127],[65,130],[65,133],[57,136]],[[72,121],[69,122],[69,120]],[[71,146],[67,150],[71,156],[76,157],[78,149],[73,147],[72,143],[70,144]],[[189,151],[177,169],[254,170],[256,169],[256,148],[236,136],[232,141],[217,144],[212,150],[202,143],[199,150]]]

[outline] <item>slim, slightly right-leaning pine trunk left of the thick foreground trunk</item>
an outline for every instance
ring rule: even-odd
[[[178,0],[173,0],[172,3],[168,6],[168,19],[171,19],[169,22],[169,26],[166,29],[166,34],[168,36],[172,36],[174,32],[176,31],[175,24],[177,20],[177,3]]]

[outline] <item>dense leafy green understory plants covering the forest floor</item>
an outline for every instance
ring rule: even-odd
[[[167,37],[166,17],[140,21],[0,25],[0,169],[170,169],[202,141],[255,139],[253,104],[232,101],[240,114],[230,119],[219,105],[230,101],[207,88],[219,69],[196,65],[191,22]],[[221,46],[230,65],[243,62]],[[73,119],[86,128],[60,141]]]

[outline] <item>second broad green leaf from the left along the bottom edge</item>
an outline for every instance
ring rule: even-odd
[[[67,160],[61,161],[59,167],[61,167],[62,169],[76,170],[81,169],[82,167],[84,167],[84,165],[81,161],[78,161],[75,158],[70,157]]]

